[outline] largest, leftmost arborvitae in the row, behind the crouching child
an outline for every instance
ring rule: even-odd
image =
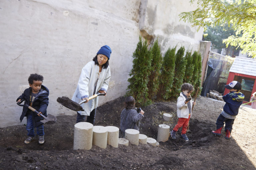
[[[142,42],[139,37],[137,47],[133,52],[133,66],[130,71],[131,78],[128,79],[130,85],[127,87],[127,96],[133,96],[136,106],[146,106],[151,100],[148,98],[148,77],[151,70],[152,53],[148,50],[147,41]]]

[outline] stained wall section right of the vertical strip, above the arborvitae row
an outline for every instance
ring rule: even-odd
[[[169,48],[177,45],[185,46],[186,49],[198,50],[202,40],[203,29],[198,32],[197,27],[180,21],[179,14],[196,9],[197,4],[190,5],[189,1],[158,0],[148,1],[147,11],[142,29],[158,38],[163,53]]]

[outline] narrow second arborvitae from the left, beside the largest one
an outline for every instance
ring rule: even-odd
[[[152,99],[159,87],[159,75],[160,75],[160,68],[162,66],[162,54],[160,46],[158,45],[158,40],[154,42],[153,47],[150,49],[152,53],[152,61],[151,61],[151,70],[149,70],[150,75],[148,77],[148,97]]]

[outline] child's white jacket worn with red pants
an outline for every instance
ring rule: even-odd
[[[191,98],[191,96],[189,96]],[[189,111],[188,111],[188,104],[185,104],[186,98],[180,93],[180,96],[177,99],[177,117],[178,118],[187,118],[189,116]],[[191,108],[193,106],[192,100],[189,101],[191,104]],[[190,118],[192,116],[192,112],[190,115]]]

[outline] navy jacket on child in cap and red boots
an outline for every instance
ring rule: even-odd
[[[243,103],[244,94],[241,92],[230,92],[222,97],[226,104],[223,107],[223,111],[229,115],[236,116],[238,109]]]

